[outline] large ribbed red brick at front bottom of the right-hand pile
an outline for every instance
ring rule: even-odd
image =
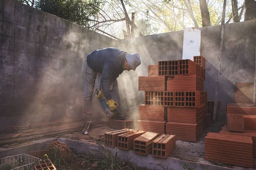
[[[253,167],[253,140],[246,136],[210,132],[205,137],[204,156],[205,160]]]

